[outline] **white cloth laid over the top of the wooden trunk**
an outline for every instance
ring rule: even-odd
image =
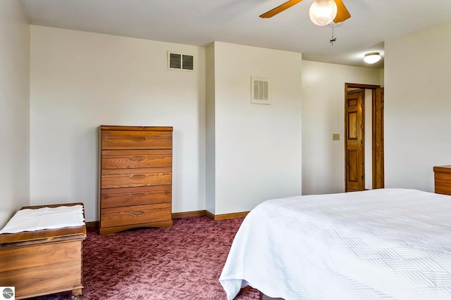
[[[0,233],[78,227],[83,226],[84,221],[82,205],[20,209],[0,230]]]

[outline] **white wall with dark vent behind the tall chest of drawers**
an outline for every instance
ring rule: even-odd
[[[167,51],[195,72],[167,69]],[[173,212],[205,207],[205,48],[31,26],[32,204],[98,220],[98,126],[173,126]]]

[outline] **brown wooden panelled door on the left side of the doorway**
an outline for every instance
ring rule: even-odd
[[[345,191],[364,190],[364,89],[347,91],[345,101]]]

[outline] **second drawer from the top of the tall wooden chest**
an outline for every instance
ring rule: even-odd
[[[172,167],[172,150],[102,150],[101,169]]]

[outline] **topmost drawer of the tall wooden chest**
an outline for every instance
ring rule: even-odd
[[[101,149],[172,149],[172,132],[101,131]]]

